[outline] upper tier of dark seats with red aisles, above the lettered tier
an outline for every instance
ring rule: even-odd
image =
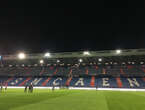
[[[145,75],[143,65],[127,66],[33,66],[1,67],[0,76]]]

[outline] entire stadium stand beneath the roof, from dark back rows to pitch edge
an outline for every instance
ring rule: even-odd
[[[25,86],[32,82],[34,86],[44,87],[145,88],[144,53],[130,53],[127,52],[126,56],[111,54],[111,57],[105,56],[108,55],[106,53],[101,55],[102,62],[98,61],[99,53],[95,53],[94,56],[82,58],[82,63],[76,60],[77,54],[70,58],[60,56],[62,63],[54,62],[57,59],[54,57],[44,59],[44,64],[36,62],[39,58],[19,61],[12,56],[11,60],[4,56],[0,66],[0,82],[8,83],[8,86]]]

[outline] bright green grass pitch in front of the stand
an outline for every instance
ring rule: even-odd
[[[0,110],[145,110],[145,92],[8,89]]]

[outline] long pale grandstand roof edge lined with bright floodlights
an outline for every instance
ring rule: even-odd
[[[79,52],[60,52],[51,53],[51,59],[53,58],[85,58],[85,57],[113,57],[113,56],[133,56],[133,55],[145,55],[145,49],[125,49],[120,54],[116,54],[116,50],[104,50],[104,51],[89,51],[90,55],[84,55],[83,51]],[[41,59],[44,58],[44,54],[26,54],[27,59]],[[18,59],[17,55],[3,55],[3,60]]]

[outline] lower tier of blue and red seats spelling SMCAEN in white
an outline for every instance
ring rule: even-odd
[[[8,86],[25,86],[26,83],[33,83],[34,86],[66,86],[67,77],[45,77],[45,78],[0,78],[0,82],[7,82]],[[110,78],[95,77],[92,84],[92,77],[74,77],[68,86],[70,87],[98,87],[98,88],[145,88],[145,78]],[[120,82],[119,82],[119,81]],[[120,84],[119,84],[120,83]]]

